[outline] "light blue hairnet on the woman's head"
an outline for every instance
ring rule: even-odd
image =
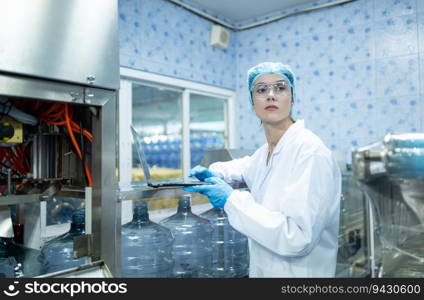
[[[296,78],[288,65],[279,62],[263,62],[247,71],[247,87],[249,89],[249,101],[253,105],[252,90],[256,79],[265,74],[278,74],[287,80],[291,87],[292,101],[296,99]]]

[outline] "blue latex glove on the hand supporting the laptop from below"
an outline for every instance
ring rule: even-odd
[[[209,201],[214,207],[224,208],[225,202],[233,192],[233,188],[219,177],[209,177],[205,182],[211,185],[195,185],[183,187],[186,192],[197,192],[208,196]]]

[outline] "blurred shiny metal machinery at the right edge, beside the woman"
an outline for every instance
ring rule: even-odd
[[[368,202],[371,275],[424,276],[424,134],[388,134],[352,153]]]

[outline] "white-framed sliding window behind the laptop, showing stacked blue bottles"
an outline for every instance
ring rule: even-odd
[[[233,97],[230,90],[121,68],[120,186],[144,180],[131,123],[153,179],[186,177],[206,150],[232,146]]]

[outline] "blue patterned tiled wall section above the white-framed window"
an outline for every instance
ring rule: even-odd
[[[235,41],[209,45],[212,22],[165,0],[119,0],[121,66],[235,89]]]

